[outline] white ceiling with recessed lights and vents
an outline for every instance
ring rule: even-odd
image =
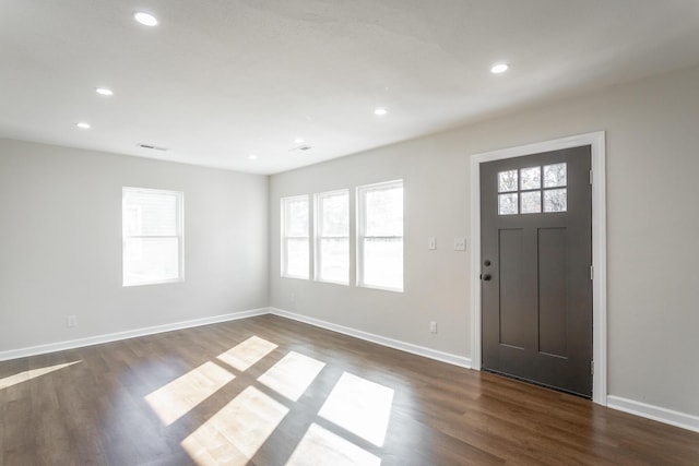
[[[274,174],[696,63],[696,0],[2,0],[0,138]]]

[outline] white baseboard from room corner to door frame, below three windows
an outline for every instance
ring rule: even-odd
[[[413,355],[423,356],[425,358],[435,359],[453,366],[471,369],[471,359],[463,356],[452,355],[450,353],[438,351],[436,349],[425,348],[424,346],[413,345],[411,343],[400,342],[398,339],[387,338],[372,333],[333,324],[331,322],[321,321],[319,319],[308,318],[306,315],[296,314],[294,312],[284,311],[282,309],[270,308],[270,313],[281,318],[292,319],[317,327],[325,328],[332,332],[342,333],[355,338],[376,343],[378,345],[388,346],[389,348],[400,349],[401,351],[411,353]]]

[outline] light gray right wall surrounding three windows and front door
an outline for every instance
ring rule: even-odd
[[[699,416],[698,124],[694,68],[273,176],[271,306],[470,357],[471,252],[451,244],[470,234],[470,156],[605,130],[608,392]],[[404,294],[280,277],[280,198],[396,178],[405,180]],[[430,236],[437,251],[427,250]]]

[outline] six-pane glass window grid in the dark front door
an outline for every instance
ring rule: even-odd
[[[566,212],[567,169],[561,163],[499,171],[498,215]]]

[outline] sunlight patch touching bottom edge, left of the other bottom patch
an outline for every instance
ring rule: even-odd
[[[248,386],[181,445],[200,466],[246,465],[287,413],[287,407]]]

